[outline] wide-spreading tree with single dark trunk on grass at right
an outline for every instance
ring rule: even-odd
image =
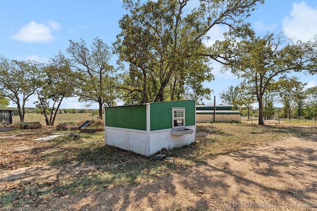
[[[237,29],[238,30],[238,29]],[[276,77],[285,77],[292,71],[317,73],[317,42],[287,40],[283,34],[267,34],[263,38],[250,31],[243,39],[219,42],[217,50],[223,52],[225,69],[252,84],[259,103],[259,125],[263,121],[263,97],[272,88]],[[233,44],[234,43],[234,44]]]

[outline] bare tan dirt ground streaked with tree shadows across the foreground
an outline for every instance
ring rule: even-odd
[[[15,146],[15,150],[26,149]],[[49,181],[61,172],[56,168],[39,165],[2,170],[0,189],[39,177]],[[61,194],[19,210],[317,211],[317,134],[220,155],[204,165],[137,186],[109,186],[103,192],[76,197]]]

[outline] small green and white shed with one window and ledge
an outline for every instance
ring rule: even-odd
[[[105,108],[107,145],[150,156],[195,140],[195,100]]]

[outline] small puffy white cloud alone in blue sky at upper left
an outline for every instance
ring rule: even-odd
[[[22,42],[51,42],[52,30],[57,30],[59,27],[59,24],[53,20],[49,20],[47,25],[31,21],[21,27],[12,38]]]

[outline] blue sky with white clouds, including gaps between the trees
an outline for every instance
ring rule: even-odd
[[[124,14],[121,0],[0,0],[0,55],[45,63],[59,51],[67,56],[69,40],[83,39],[90,45],[99,37],[111,45],[120,32],[118,21]],[[308,41],[317,34],[317,0],[265,0],[248,21],[259,36],[284,31],[289,38]],[[221,40],[223,31],[221,27],[213,28],[210,43]],[[215,80],[205,86],[213,89],[211,98],[215,96],[219,104],[219,93],[240,80],[230,73],[220,73],[219,64],[213,63],[212,67]],[[296,76],[308,83],[307,87],[317,85],[317,76]],[[34,100],[36,97],[26,107],[34,107]],[[68,98],[61,108],[86,107],[76,98]]]

